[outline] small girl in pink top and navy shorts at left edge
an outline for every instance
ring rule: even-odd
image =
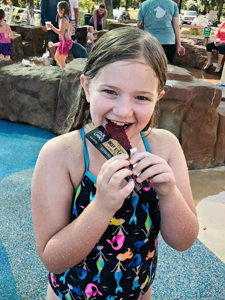
[[[10,58],[13,54],[13,48],[10,40],[13,37],[13,32],[4,19],[5,12],[2,8],[0,8],[0,56]]]

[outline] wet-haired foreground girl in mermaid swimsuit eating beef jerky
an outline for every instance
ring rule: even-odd
[[[199,229],[181,146],[169,131],[153,129],[166,56],[147,32],[117,28],[96,42],[80,79],[66,133],[43,146],[32,180],[37,250],[50,271],[47,299],[150,300],[159,230],[184,251]],[[137,147],[131,159],[106,161],[84,137],[110,122],[126,127]],[[150,178],[151,188],[136,194],[124,178],[141,171],[137,181]]]

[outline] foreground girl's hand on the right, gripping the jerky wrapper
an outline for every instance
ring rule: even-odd
[[[163,158],[149,152],[137,152],[129,162],[131,165],[138,163],[132,170],[134,175],[144,170],[136,179],[138,183],[149,179],[149,185],[157,191],[158,196],[169,196],[175,192],[173,171]]]

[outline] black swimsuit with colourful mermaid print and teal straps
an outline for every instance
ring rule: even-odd
[[[96,193],[96,178],[88,171],[84,129],[80,131],[85,174],[74,191],[71,222],[95,201]],[[150,152],[147,140],[143,138],[143,141]],[[66,300],[141,300],[155,277],[159,230],[160,211],[155,190],[145,188],[138,195],[132,192],[83,261],[62,274],[49,273],[53,291]]]

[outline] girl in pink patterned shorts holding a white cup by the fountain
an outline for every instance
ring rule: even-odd
[[[59,34],[60,42],[59,44],[56,43],[58,48],[56,49],[55,60],[61,68],[65,68],[65,60],[73,44],[73,41],[71,40],[73,29],[68,17],[70,13],[69,4],[66,1],[59,2],[57,5],[57,12],[59,15],[59,29],[55,28],[52,24],[46,24],[46,27]]]

